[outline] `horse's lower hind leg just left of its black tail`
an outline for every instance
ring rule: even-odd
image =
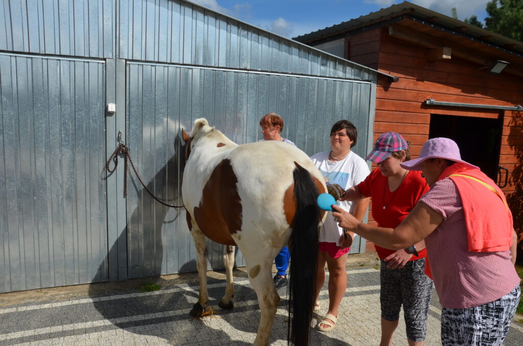
[[[249,275],[249,281],[258,296],[258,304],[261,312],[258,332],[253,345],[266,346],[269,344],[270,331],[274,317],[276,316],[276,310],[280,304],[280,296],[276,292],[274,282],[272,281],[272,263],[253,264],[253,266],[247,265],[247,273]]]

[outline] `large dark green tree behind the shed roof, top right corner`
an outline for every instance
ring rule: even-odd
[[[485,29],[523,41],[523,0],[491,0],[486,11]]]

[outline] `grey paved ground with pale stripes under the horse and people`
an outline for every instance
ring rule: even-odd
[[[340,306],[335,330],[311,335],[311,345],[377,345],[380,337],[379,271],[375,253],[350,255],[349,287]],[[225,276],[209,272],[210,305],[217,307]],[[161,285],[139,293],[147,279],[56,287],[0,294],[0,346],[4,345],[250,345],[259,320],[256,295],[243,268],[235,270],[236,304],[233,310],[217,307],[215,317],[191,320],[188,312],[197,301],[195,274],[166,275],[148,281]],[[287,344],[286,289],[272,328],[273,346]],[[326,314],[326,287],[320,296]],[[427,346],[440,345],[440,306],[434,295],[428,321]],[[523,316],[519,316],[523,318]],[[405,345],[400,326],[393,345]],[[513,322],[504,345],[523,344],[523,325]]]

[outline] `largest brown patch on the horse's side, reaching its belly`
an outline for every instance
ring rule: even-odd
[[[200,204],[194,209],[201,232],[219,244],[235,246],[231,235],[242,229],[242,203],[237,183],[231,160],[222,160],[212,171],[203,187]]]

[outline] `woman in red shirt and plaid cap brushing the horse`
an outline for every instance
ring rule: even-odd
[[[408,144],[400,134],[382,134],[366,159],[378,167],[364,181],[348,189],[340,200],[371,197],[374,220],[380,227],[395,228],[429,187],[420,172],[400,166],[411,159]],[[408,344],[423,345],[433,292],[433,282],[424,274],[425,243],[422,240],[407,250],[397,251],[375,247],[381,261],[380,346],[391,345],[402,305]]]

